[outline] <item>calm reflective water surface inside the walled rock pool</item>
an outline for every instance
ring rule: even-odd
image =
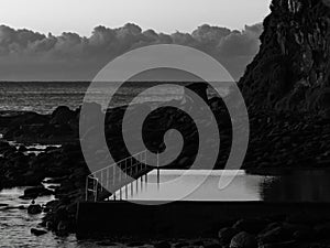
[[[122,188],[122,197],[136,201],[170,201],[182,195],[184,201],[264,201],[264,202],[327,202],[330,203],[330,171],[292,171],[280,175],[256,175],[239,171],[233,181],[219,188],[220,176],[231,176],[232,171],[152,171],[145,177]],[[195,188],[197,182],[207,175],[205,182]],[[117,192],[120,197],[120,191]]]

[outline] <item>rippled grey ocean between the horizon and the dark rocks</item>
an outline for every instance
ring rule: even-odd
[[[89,83],[84,82],[0,82],[0,111],[36,111],[50,114],[58,106],[68,106],[76,109],[81,106]],[[111,107],[128,104],[128,99],[136,96],[145,87],[154,86],[153,83],[131,83],[123,86]],[[179,85],[185,85],[180,83]],[[106,87],[106,88],[105,88]],[[219,84],[223,95],[228,89]],[[92,99],[103,99],[106,93],[114,93],[113,84],[108,83],[100,86],[92,93]],[[150,89],[145,94],[138,96],[133,103],[166,101],[180,99],[184,90],[176,86],[163,85],[156,89]],[[210,91],[215,95],[215,91]]]

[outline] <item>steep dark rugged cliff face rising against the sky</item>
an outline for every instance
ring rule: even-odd
[[[330,1],[273,0],[240,83],[250,106],[330,116]]]

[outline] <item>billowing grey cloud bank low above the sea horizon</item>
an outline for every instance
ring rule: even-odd
[[[59,36],[0,25],[0,80],[90,80],[109,61],[151,44],[188,45],[208,53],[239,78],[257,53],[262,24],[242,31],[201,25],[193,33],[97,26],[89,37],[65,32]]]

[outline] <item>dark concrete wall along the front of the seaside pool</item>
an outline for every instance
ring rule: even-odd
[[[298,212],[330,219],[330,204],[263,202],[174,202],[139,205],[129,202],[81,202],[77,237],[208,237],[239,218],[272,217]]]

